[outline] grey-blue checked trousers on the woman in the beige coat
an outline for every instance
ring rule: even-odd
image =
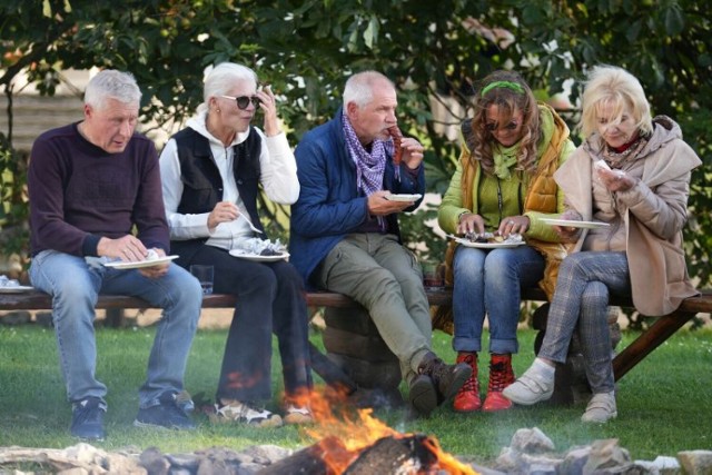
[[[586,378],[594,394],[615,389],[609,329],[609,293],[630,295],[625,253],[583,251],[567,256],[558,269],[540,357],[565,363],[578,331]]]

